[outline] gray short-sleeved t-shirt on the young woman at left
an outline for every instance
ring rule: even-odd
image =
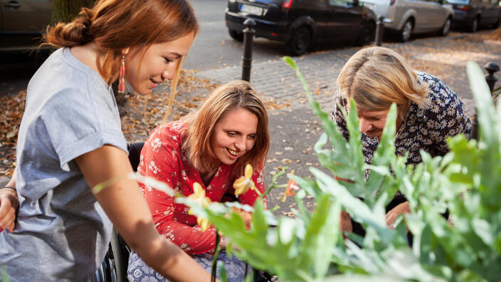
[[[28,84],[16,154],[19,214],[14,233],[0,234],[0,266],[11,281],[88,281],[100,265],[112,224],[74,159],[105,144],[127,152],[112,90],[61,48]]]

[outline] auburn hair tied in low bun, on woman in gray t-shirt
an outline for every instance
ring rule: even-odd
[[[144,46],[144,55],[153,43],[173,41],[198,31],[194,10],[186,0],[98,0],[91,9],[82,8],[70,23],[48,26],[42,45],[70,48],[95,43],[102,51],[97,68],[111,84],[120,70],[123,49]],[[178,61],[172,80],[169,109],[183,62],[184,58]]]

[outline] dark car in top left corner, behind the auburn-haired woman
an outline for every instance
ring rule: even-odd
[[[51,0],[0,0],[0,52],[36,46],[51,13]]]

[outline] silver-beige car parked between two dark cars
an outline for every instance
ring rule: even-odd
[[[453,23],[454,11],[445,0],[362,0],[364,6],[385,16],[384,29],[397,33],[403,42],[414,33],[438,31],[446,36]],[[465,0],[466,1],[466,0]]]

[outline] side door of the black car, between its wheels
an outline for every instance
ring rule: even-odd
[[[329,0],[329,36],[332,38],[355,38],[362,26],[362,7],[354,6],[352,0]]]

